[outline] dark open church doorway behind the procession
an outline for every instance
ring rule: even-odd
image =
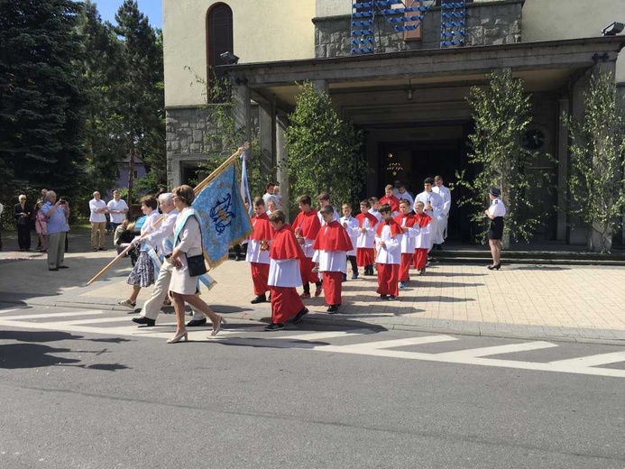
[[[416,196],[423,191],[423,180],[436,175],[440,175],[446,187],[449,187],[450,183],[455,183],[456,171],[469,170],[464,142],[464,139],[455,139],[380,143],[380,187],[377,193],[383,194],[384,186],[400,179],[409,192]],[[470,242],[472,230],[468,210],[457,205],[460,190],[452,190],[451,196],[447,237],[449,240]]]

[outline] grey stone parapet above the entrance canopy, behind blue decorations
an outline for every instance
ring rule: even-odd
[[[522,0],[481,2],[466,6],[466,45],[485,46],[520,41]],[[313,19],[315,56],[340,57],[350,54],[351,17],[329,16]],[[440,7],[432,7],[421,24],[420,41],[404,41],[403,32],[394,32],[380,16],[375,26],[375,51],[397,52],[440,47]]]

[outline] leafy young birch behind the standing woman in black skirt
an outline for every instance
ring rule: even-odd
[[[476,165],[474,179],[464,171],[456,173],[458,185],[468,189],[459,205],[471,207],[472,221],[482,229],[476,241],[485,242],[488,229],[483,210],[489,206],[488,189],[501,188],[506,204],[504,243],[528,241],[540,224],[540,216],[530,215],[532,204],[528,189],[538,183],[538,174],[528,169],[538,153],[523,148],[521,142],[531,121],[530,96],[523,93],[522,80],[513,78],[510,69],[494,71],[488,87],[472,87],[467,98],[473,108],[474,132],[469,135],[472,152],[469,163]],[[540,175],[543,176],[543,175]]]

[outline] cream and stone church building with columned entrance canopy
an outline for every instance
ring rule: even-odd
[[[454,182],[456,171],[471,170],[466,98],[493,70],[510,69],[532,96],[522,144],[543,155],[533,170],[556,187],[530,194],[547,214],[536,240],[584,244],[556,209],[565,207],[569,170],[562,115],[582,114],[594,68],[611,71],[625,97],[621,23],[625,0],[163,0],[170,185],[206,159],[218,105],[207,105],[202,81],[212,73],[234,84],[237,123],[258,129],[267,167],[288,164],[297,83],[324,89],[363,131],[373,170],[365,192],[380,196],[396,179],[418,193],[427,176]],[[288,192],[286,174],[277,177]],[[450,237],[470,240],[467,216],[453,205]]]

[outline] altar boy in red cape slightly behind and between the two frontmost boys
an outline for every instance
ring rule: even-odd
[[[298,205],[301,210],[298,216],[295,217],[293,222],[293,229],[295,230],[295,236],[298,238],[299,244],[301,244],[306,256],[299,263],[299,270],[301,273],[301,281],[304,286],[304,292],[301,294],[301,298],[310,298],[310,282],[317,285],[315,290],[315,296],[318,297],[321,294],[322,283],[317,276],[317,273],[312,271],[313,269],[313,255],[315,250],[312,244],[317,238],[317,233],[321,228],[319,217],[317,216],[317,210],[311,207],[312,200],[310,196],[299,196]]]

